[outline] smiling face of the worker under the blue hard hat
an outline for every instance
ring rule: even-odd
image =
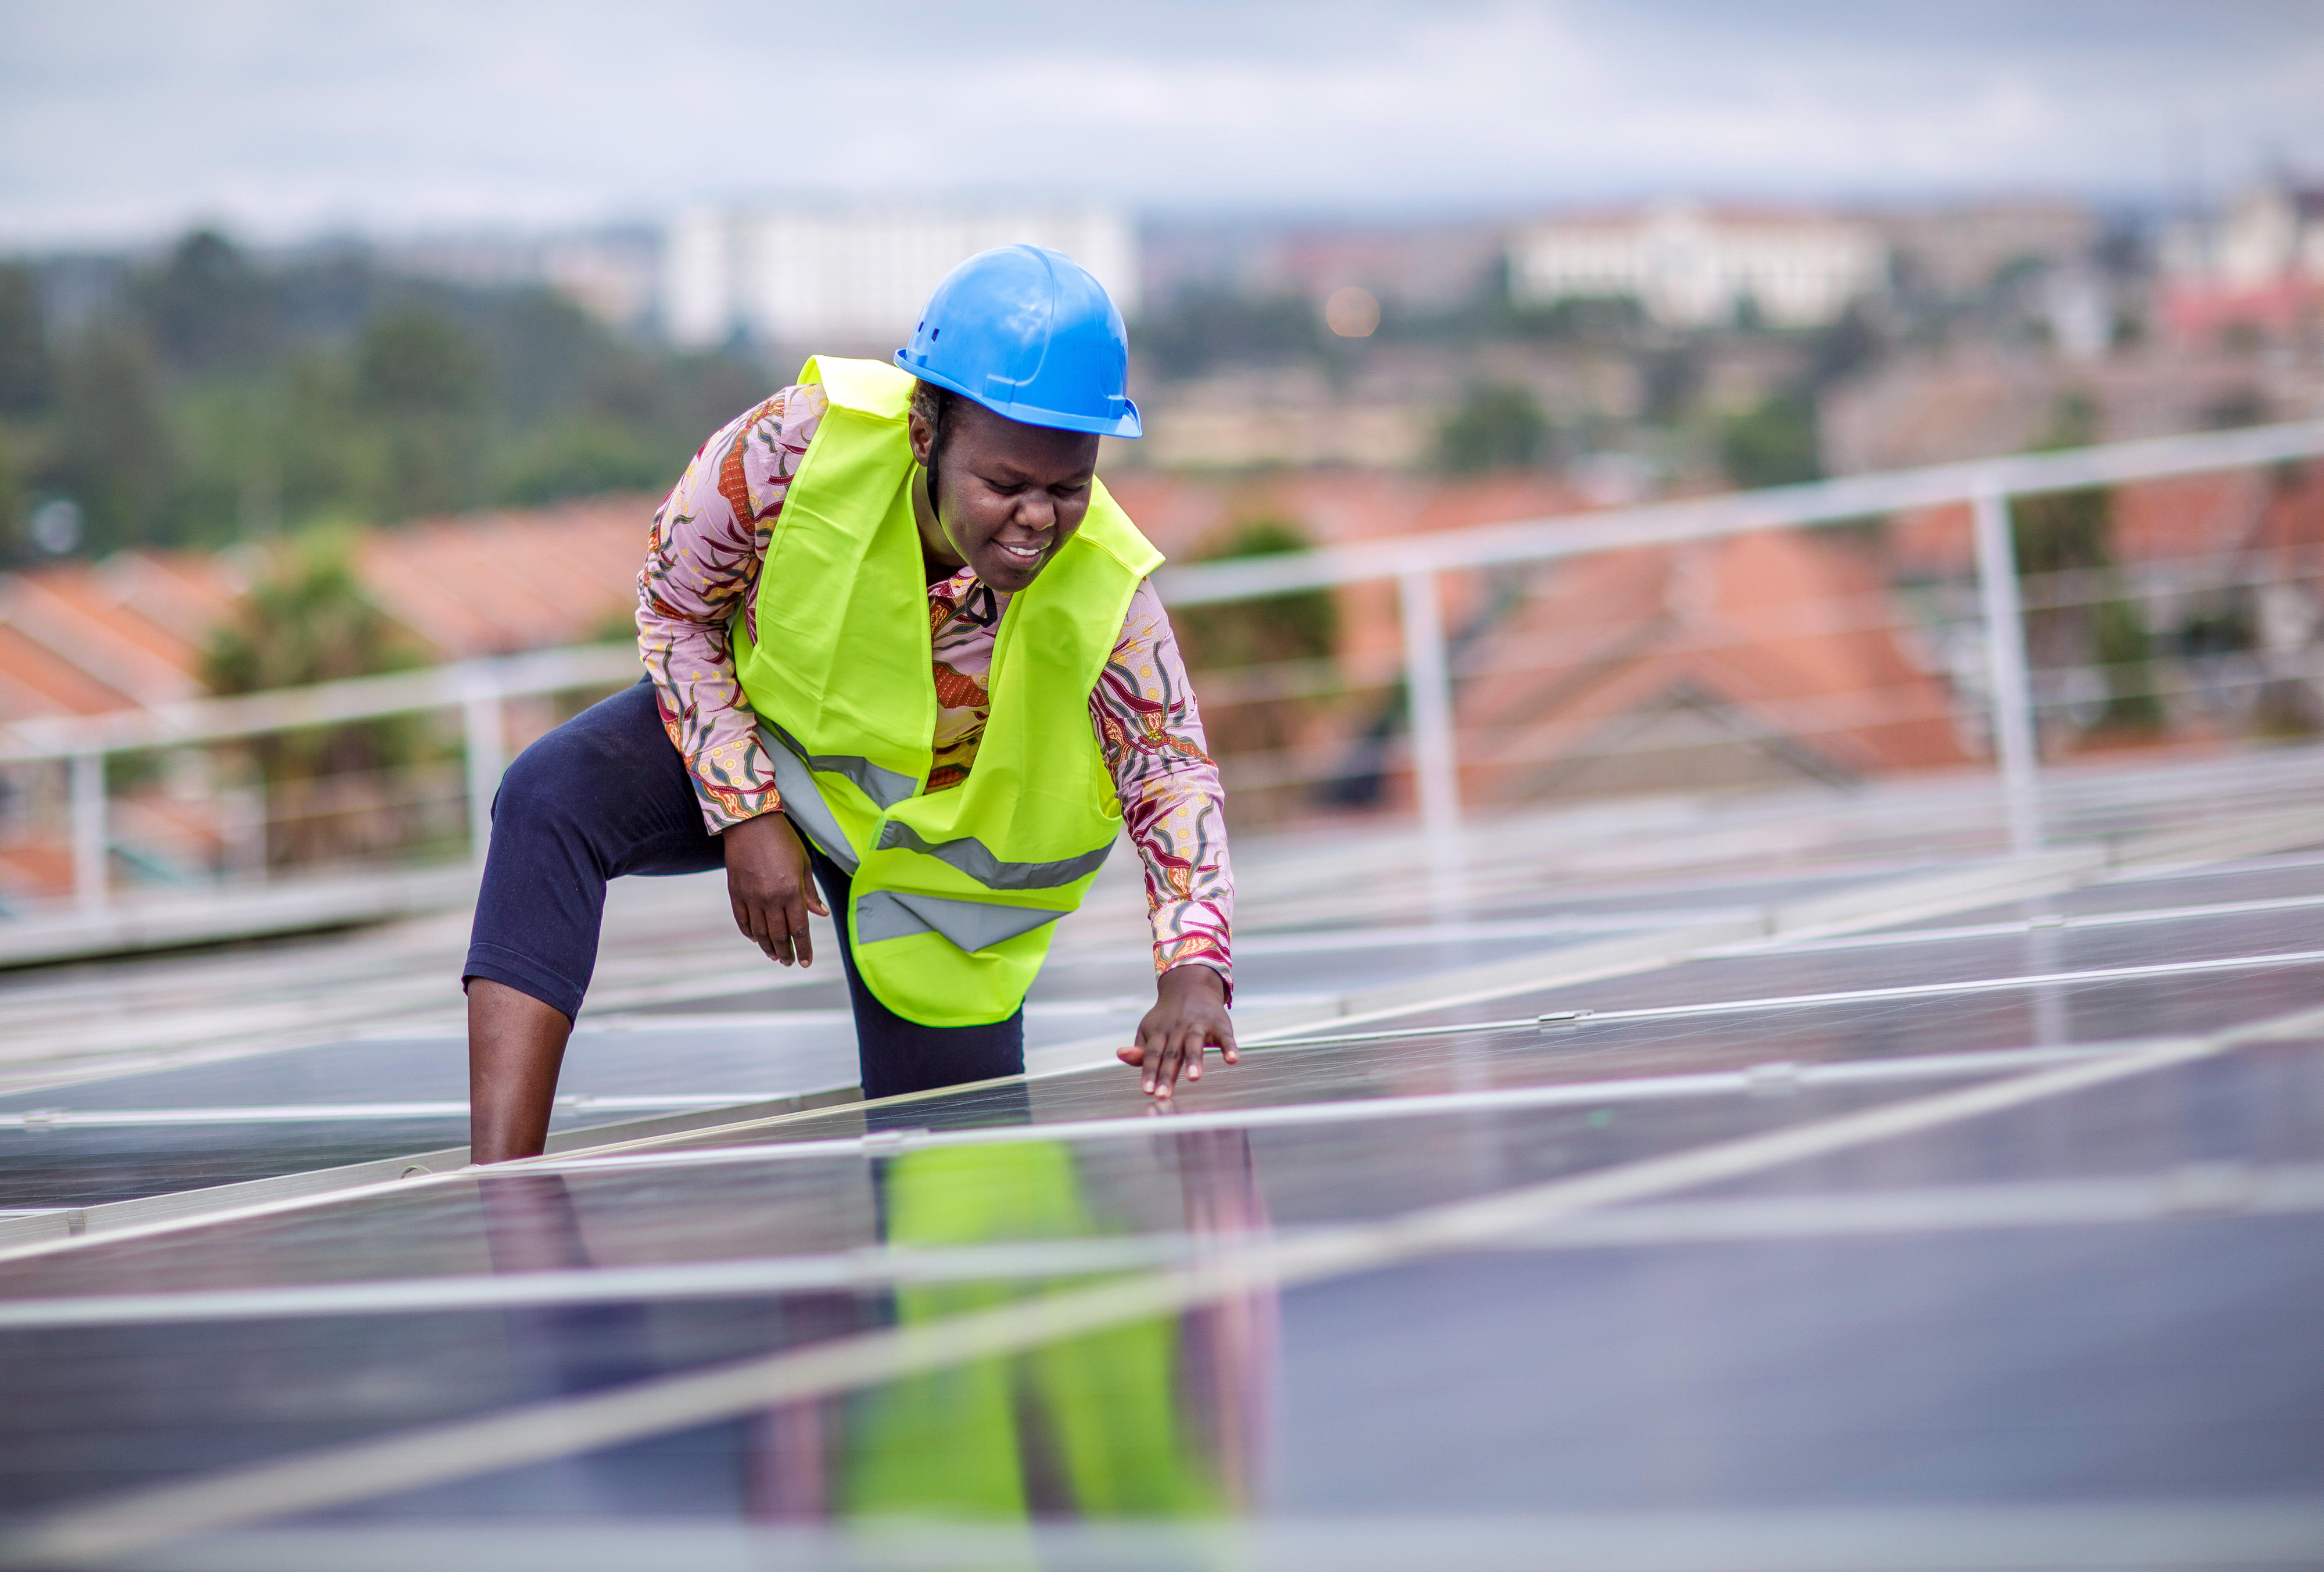
[[[911,456],[923,465],[932,437],[913,407]],[[939,537],[927,537],[930,553],[967,563],[995,591],[1013,595],[1032,584],[1090,512],[1095,435],[1025,426],[955,398],[937,458],[927,500]]]

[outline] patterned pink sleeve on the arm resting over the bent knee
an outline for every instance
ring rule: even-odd
[[[637,574],[637,649],[713,835],[783,805],[727,626],[737,609],[758,616],[767,537],[823,409],[823,388],[783,388],[704,442],[653,516]]]

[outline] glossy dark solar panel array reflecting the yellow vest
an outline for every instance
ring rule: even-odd
[[[1441,921],[1255,844],[1169,1116],[1113,919],[1030,1077],[876,1105],[827,979],[618,977],[488,1172],[442,1014],[23,1086],[0,1553],[2315,1565],[2324,856],[2145,793],[1513,821]]]

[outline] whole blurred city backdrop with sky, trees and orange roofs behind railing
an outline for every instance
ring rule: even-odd
[[[1176,560],[2324,414],[2317,7],[858,9],[35,7],[0,726],[623,639],[688,453],[1013,240],[1132,319]],[[2312,735],[2319,551],[2298,465],[2020,505],[2043,746]],[[1464,791],[1973,767],[1971,600],[1966,509],[1448,574]],[[1178,621],[1241,816],[1406,800],[1387,584]],[[465,828],[418,723],[112,791],[123,881]]]

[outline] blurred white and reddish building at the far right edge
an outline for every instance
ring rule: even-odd
[[[2180,340],[2324,319],[2324,184],[2278,179],[2164,235],[2161,316]]]

